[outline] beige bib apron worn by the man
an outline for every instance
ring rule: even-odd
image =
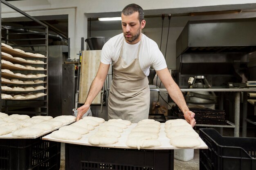
[[[139,51],[130,64],[122,58],[124,42],[120,56],[113,64],[113,79],[108,98],[108,119],[124,119],[137,123],[148,119],[150,90],[148,77],[141,70]]]

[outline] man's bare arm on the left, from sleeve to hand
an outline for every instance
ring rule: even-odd
[[[90,105],[92,104],[92,101],[94,100],[94,98],[101,91],[101,88],[103,87],[104,81],[108,74],[109,66],[110,66],[110,64],[103,64],[102,62],[100,63],[97,75],[94,78],[94,80],[92,81],[92,84],[90,86],[90,90],[89,90],[88,96],[85,100],[85,104],[77,109],[79,111],[78,111],[78,114],[76,117],[76,121],[78,121],[79,119],[81,119],[83,117],[83,115],[90,108]]]

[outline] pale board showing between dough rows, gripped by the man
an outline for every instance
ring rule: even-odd
[[[106,122],[105,122],[106,123]],[[49,141],[57,141],[57,142],[63,142],[63,143],[68,143],[68,144],[77,144],[77,145],[86,145],[86,146],[98,146],[98,147],[107,147],[107,148],[124,148],[124,149],[135,149],[135,148],[130,148],[126,145],[126,140],[128,138],[128,135],[130,134],[131,130],[137,126],[137,123],[133,123],[128,128],[124,129],[124,132],[121,133],[121,137],[118,138],[118,142],[112,145],[92,145],[88,142],[88,138],[91,135],[94,135],[100,126],[103,126],[105,123],[100,124],[99,126],[96,126],[94,130],[89,131],[88,134],[82,135],[82,138],[79,140],[61,140],[61,139],[55,139],[52,138],[48,134],[44,136],[42,139],[44,140],[49,140]],[[157,147],[150,147],[150,148],[143,148],[143,149],[155,149],[155,150],[171,150],[171,149],[184,149],[184,148],[177,148],[174,147],[170,144],[170,139],[166,137],[166,132],[164,132],[164,123],[161,123],[160,125],[160,132],[159,132],[159,137],[158,140],[161,142],[161,146]],[[195,147],[194,149],[207,149],[208,146],[202,141],[202,139],[199,137],[199,140],[201,142],[201,145],[198,147]],[[137,148],[136,148],[137,149]],[[141,148],[142,149],[142,148]]]

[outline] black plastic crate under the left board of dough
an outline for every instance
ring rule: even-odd
[[[61,143],[36,139],[0,139],[0,170],[59,170]]]

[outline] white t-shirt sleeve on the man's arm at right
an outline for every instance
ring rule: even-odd
[[[162,70],[167,67],[164,55],[159,50],[157,44],[155,43],[152,48],[150,48],[151,66],[156,71]]]

